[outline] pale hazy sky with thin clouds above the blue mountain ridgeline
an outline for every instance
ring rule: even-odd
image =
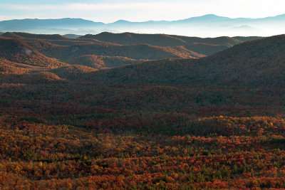
[[[0,0],[0,20],[82,18],[110,23],[173,21],[204,14],[263,18],[285,14],[284,0]]]

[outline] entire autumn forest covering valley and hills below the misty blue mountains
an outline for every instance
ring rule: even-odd
[[[285,36],[241,39],[2,34],[0,189],[285,188]]]

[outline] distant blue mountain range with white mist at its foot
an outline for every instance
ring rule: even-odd
[[[119,20],[102,23],[84,19],[22,19],[0,21],[0,31],[28,33],[73,33],[85,35],[103,31],[114,33],[168,33],[184,36],[272,36],[285,33],[285,14],[262,19],[238,18],[208,14],[179,21],[130,22]]]

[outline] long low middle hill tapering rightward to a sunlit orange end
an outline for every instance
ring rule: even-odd
[[[135,60],[153,60],[162,58],[200,58],[203,55],[187,50],[186,48],[163,48],[148,44],[135,44],[120,46],[115,44],[86,43],[74,46],[56,46],[48,42],[29,42],[31,46],[41,51],[46,56],[58,58],[63,61],[71,60],[78,56],[121,56]]]

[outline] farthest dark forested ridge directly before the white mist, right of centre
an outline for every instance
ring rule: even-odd
[[[185,46],[190,51],[202,55],[210,56],[213,53],[235,46],[244,41],[254,40],[259,37],[236,37],[227,36],[218,38],[198,38],[188,36],[175,36],[166,34],[138,34],[138,33],[108,33],[103,32],[97,35],[81,36],[81,39],[96,39],[98,41],[107,41],[118,43],[120,45],[132,45],[138,43],[147,43],[152,46]],[[239,38],[239,39],[238,39]]]

